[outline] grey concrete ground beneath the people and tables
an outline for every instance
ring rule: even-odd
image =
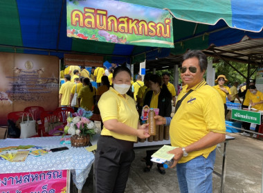
[[[253,139],[240,134],[229,134],[235,136],[235,140],[229,141],[227,146],[226,183],[225,193],[254,193],[261,191],[262,183],[262,161],[263,141]],[[221,143],[220,151],[223,151]],[[151,172],[143,172],[145,163],[140,159],[145,156],[145,150],[152,148],[135,149],[136,158],[131,166],[129,180],[125,193],[170,193],[179,192],[176,169],[167,169],[165,175],[157,171],[156,165]],[[222,156],[217,150],[215,170],[221,171]],[[91,171],[92,173],[92,171]],[[213,192],[219,192],[220,178],[213,174]],[[85,183],[82,192],[93,192],[93,181],[91,175]]]

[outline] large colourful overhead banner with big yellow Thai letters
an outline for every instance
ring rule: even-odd
[[[109,0],[66,3],[67,37],[174,48],[172,15],[167,10]]]

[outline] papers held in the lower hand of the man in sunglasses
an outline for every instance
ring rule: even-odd
[[[160,148],[157,152],[152,154],[151,161],[154,161],[156,163],[165,163],[165,161],[171,161],[171,159],[174,158],[174,154],[168,154],[167,152],[174,150],[178,147],[172,147],[170,145],[163,145],[162,148]]]

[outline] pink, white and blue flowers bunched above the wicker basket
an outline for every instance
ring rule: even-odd
[[[78,112],[72,114],[73,117],[68,117],[68,123],[64,128],[62,137],[66,134],[71,134],[71,136],[89,136],[92,139],[92,136],[98,132],[96,124],[89,120],[92,114],[91,111],[79,108]]]

